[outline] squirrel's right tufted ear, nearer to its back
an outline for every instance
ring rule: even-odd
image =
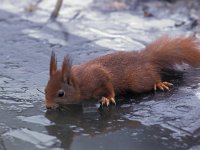
[[[65,56],[62,65],[62,79],[67,84],[71,83],[71,68],[72,68],[72,60],[69,55]]]

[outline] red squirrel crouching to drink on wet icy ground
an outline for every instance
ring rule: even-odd
[[[50,79],[45,88],[46,108],[97,98],[102,106],[115,104],[115,95],[151,90],[168,91],[172,83],[162,80],[164,69],[186,63],[200,67],[200,45],[194,37],[161,37],[142,51],[114,52],[80,65],[69,56],[57,69],[55,53],[50,60]]]

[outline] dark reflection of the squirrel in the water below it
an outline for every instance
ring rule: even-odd
[[[122,117],[122,109],[113,107],[109,111],[84,112],[81,105],[69,107],[71,111],[49,110],[45,116],[53,124],[46,126],[49,135],[57,137],[64,149],[70,149],[74,137],[103,135],[123,128],[137,128],[140,123]],[[125,108],[124,108],[125,109]]]

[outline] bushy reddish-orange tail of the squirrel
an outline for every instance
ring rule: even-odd
[[[194,37],[164,36],[148,45],[144,54],[161,69],[182,63],[200,67],[200,43]]]

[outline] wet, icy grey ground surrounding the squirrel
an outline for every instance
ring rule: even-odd
[[[97,104],[46,112],[43,94],[52,50],[59,64],[67,53],[78,64],[163,34],[200,38],[198,0],[65,0],[51,22],[54,5],[1,1],[1,150],[200,149],[200,69],[173,80],[170,92],[118,98],[110,112]]]

